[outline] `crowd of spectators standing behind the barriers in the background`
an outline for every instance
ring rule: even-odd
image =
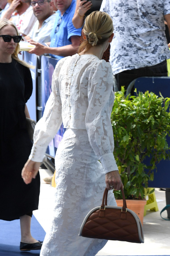
[[[109,62],[118,89],[121,86],[126,89],[141,74],[167,75],[169,0],[159,0],[156,4],[152,0],[146,4],[127,0],[127,5],[122,0],[98,2],[100,11],[111,16],[116,32]],[[0,18],[13,22],[24,40],[35,45],[30,54],[61,59],[78,51],[84,17],[92,6],[90,0],[1,0]]]

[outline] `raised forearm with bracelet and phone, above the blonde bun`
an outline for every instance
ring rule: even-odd
[[[81,28],[83,26],[84,15],[91,8],[91,5],[92,5],[91,1],[77,0],[75,13],[72,18],[72,23],[75,28]]]

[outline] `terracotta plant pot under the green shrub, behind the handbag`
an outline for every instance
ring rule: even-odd
[[[117,206],[120,206],[120,207],[123,206],[122,199],[116,199],[116,202],[117,202]],[[129,200],[129,199],[126,200],[127,208],[134,211],[138,215],[142,225],[143,225],[144,208],[146,203],[147,201],[145,198],[143,200]]]

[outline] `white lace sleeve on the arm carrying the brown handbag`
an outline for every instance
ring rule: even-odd
[[[90,144],[102,163],[104,172],[116,171],[118,167],[113,155],[114,137],[111,124],[112,106],[109,98],[112,90],[113,74],[110,63],[100,61],[92,69],[88,84],[88,109],[85,123]],[[100,75],[99,75],[100,74]]]

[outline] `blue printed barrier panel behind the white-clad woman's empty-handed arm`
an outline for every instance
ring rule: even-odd
[[[46,56],[41,57],[42,114],[44,113],[46,102],[51,94],[52,74],[57,62],[57,59]],[[50,142],[47,148],[47,154],[53,157],[55,156],[58,144],[62,140],[65,130],[62,124],[54,139]]]

